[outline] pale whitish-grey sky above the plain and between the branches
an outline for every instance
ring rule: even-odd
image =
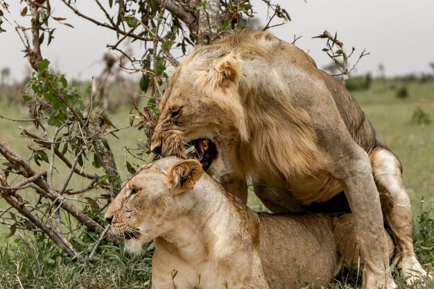
[[[24,4],[16,0],[7,1],[10,14],[6,17],[12,23],[3,24],[8,30],[0,33],[0,69],[10,67],[12,76],[20,79],[28,64],[21,52],[23,46],[14,30],[14,21],[27,24],[29,19],[19,16]],[[88,15],[99,15],[92,0],[78,0],[79,7]],[[388,76],[406,73],[433,73],[429,62],[434,62],[434,1],[433,0],[292,0],[272,1],[281,3],[288,10],[293,21],[285,26],[272,28],[282,40],[293,41],[294,35],[303,37],[297,40],[297,46],[317,62],[322,68],[330,63],[322,51],[325,40],[311,37],[329,30],[338,32],[338,39],[344,42],[347,51],[356,47],[353,62],[358,54],[367,49],[370,55],[359,62],[356,73],[370,71],[378,75],[379,64],[385,67]],[[84,4],[83,4],[84,3]],[[261,0],[251,1],[261,23],[266,23],[266,10]],[[112,30],[97,27],[80,19],[64,7],[60,1],[52,0],[55,17],[67,17],[67,22],[75,26],[69,28],[55,24],[55,39],[48,47],[42,47],[42,55],[53,63],[53,67],[67,77],[89,79],[101,71],[101,56],[106,44],[114,44],[116,36]],[[54,24],[52,22],[52,24]],[[143,47],[134,46],[137,55]],[[350,60],[351,62],[351,60]]]

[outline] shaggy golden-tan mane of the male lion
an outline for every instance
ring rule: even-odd
[[[286,80],[271,64],[266,75],[245,67],[245,62],[258,58],[266,62],[284,45],[288,44],[271,33],[244,30],[200,46],[176,69],[161,105],[180,74],[192,74],[192,91],[236,121],[241,137],[239,171],[251,173],[255,168],[261,174],[264,168],[266,174],[272,168],[279,179],[313,175],[327,159],[317,146],[309,115],[291,102]]]

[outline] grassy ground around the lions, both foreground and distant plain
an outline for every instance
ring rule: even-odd
[[[397,98],[397,91],[406,87],[408,97]],[[434,206],[434,82],[374,82],[367,91],[356,91],[354,96],[374,128],[378,130],[388,145],[401,159],[403,175],[415,211],[415,245],[419,259],[426,266],[434,259],[434,223],[430,210]],[[421,107],[431,120],[428,125],[412,123],[413,115]],[[109,116],[116,127],[128,127],[130,107],[119,106]],[[26,118],[26,110],[1,98],[0,115],[13,119]],[[31,128],[28,123],[10,122],[0,119],[0,138],[24,157],[28,155],[26,139],[19,136],[18,125]],[[143,132],[128,128],[118,132],[119,139],[110,139],[119,170],[128,176],[124,165],[125,146],[134,147],[144,139]],[[0,158],[0,162],[2,159]],[[137,162],[137,161],[136,161]],[[41,168],[43,170],[44,168]],[[58,175],[62,174],[59,169]],[[81,187],[83,183],[73,180],[71,186]],[[423,203],[421,200],[423,199]],[[249,204],[263,210],[261,202],[253,195]],[[423,209],[421,205],[423,204]],[[0,209],[6,204],[0,200]],[[99,259],[92,265],[78,264],[47,242],[44,238],[31,236],[30,244],[16,243],[13,238],[6,242],[8,229],[0,226],[0,289],[21,288],[148,288],[150,276],[150,252],[141,256],[125,255],[123,249],[111,245],[101,246]],[[350,279],[347,279],[350,278]],[[397,272],[396,279],[404,288],[403,280]],[[360,281],[357,276],[342,277],[343,282],[333,288],[352,288],[347,284]],[[341,281],[342,281],[341,280]],[[434,284],[428,283],[428,288]]]

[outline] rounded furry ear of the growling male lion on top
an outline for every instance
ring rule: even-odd
[[[229,53],[219,59],[215,69],[218,73],[217,79],[220,80],[218,84],[223,87],[229,85],[229,82],[237,83],[241,75],[238,57],[235,53]]]

